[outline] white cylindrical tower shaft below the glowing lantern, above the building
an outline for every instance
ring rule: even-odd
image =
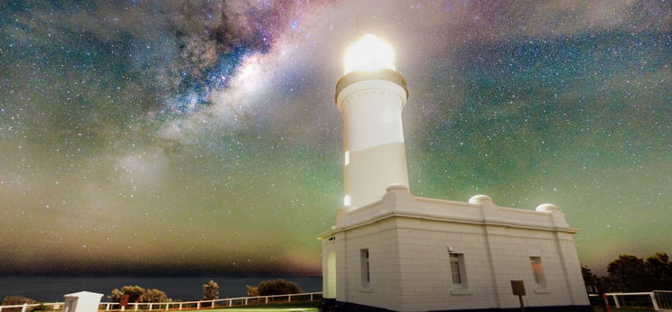
[[[337,94],[343,116],[343,206],[347,210],[380,200],[391,185],[408,187],[401,121],[406,97],[405,87],[376,78],[353,82]]]

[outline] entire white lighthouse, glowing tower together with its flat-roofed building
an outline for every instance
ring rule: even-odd
[[[556,206],[410,194],[401,123],[406,80],[387,42],[370,36],[354,46],[373,53],[358,58],[376,66],[345,60],[348,72],[336,87],[345,196],[336,225],[320,235],[327,303],[347,311],[514,310],[520,304],[511,280],[522,280],[527,311],[592,311],[572,238],[578,230]]]

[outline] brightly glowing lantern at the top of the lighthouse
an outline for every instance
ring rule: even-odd
[[[345,73],[395,69],[395,50],[385,39],[367,33],[348,46],[343,54]]]

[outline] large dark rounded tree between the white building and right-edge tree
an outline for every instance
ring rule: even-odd
[[[609,263],[609,277],[621,291],[650,290],[650,279],[644,261],[630,254],[621,254]]]

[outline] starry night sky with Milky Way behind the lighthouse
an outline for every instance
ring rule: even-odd
[[[411,192],[672,253],[666,1],[3,1],[0,274],[320,273],[341,53],[397,50]]]

